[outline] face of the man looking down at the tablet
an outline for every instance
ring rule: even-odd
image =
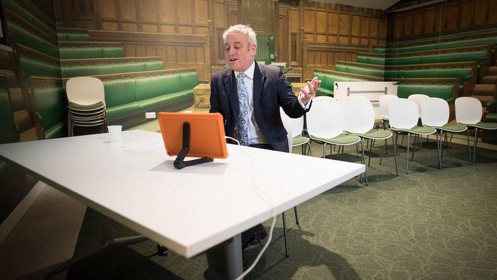
[[[248,46],[247,36],[240,32],[228,34],[224,47],[225,59],[231,69],[244,72],[254,62],[257,45]]]

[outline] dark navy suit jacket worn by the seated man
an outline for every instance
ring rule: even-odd
[[[275,150],[288,151],[287,131],[281,120],[280,107],[291,118],[301,117],[306,110],[298,103],[279,67],[255,63],[253,99],[256,122],[266,140]],[[210,106],[209,112],[223,115],[225,133],[233,137],[238,115],[238,93],[232,69],[212,75]]]

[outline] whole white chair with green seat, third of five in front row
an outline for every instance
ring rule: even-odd
[[[440,142],[438,140],[438,133],[434,128],[428,128],[423,126],[418,126],[419,121],[419,110],[415,101],[399,98],[392,99],[389,102],[389,121],[392,131],[397,133],[407,133],[407,154],[405,158],[405,173],[409,170],[409,137],[411,134],[415,135],[415,140],[412,150],[412,159],[414,159],[414,152],[416,150],[416,144],[418,136],[430,135],[435,133],[437,140],[438,149],[438,168],[441,168],[440,164]],[[396,136],[396,137],[397,137]],[[397,141],[394,141],[394,145],[397,145]]]

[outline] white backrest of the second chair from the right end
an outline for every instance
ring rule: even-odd
[[[449,122],[449,103],[430,97],[421,100],[421,122],[427,126],[444,126]]]

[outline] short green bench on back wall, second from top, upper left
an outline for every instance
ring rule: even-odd
[[[122,46],[61,46],[61,59],[124,57]]]

